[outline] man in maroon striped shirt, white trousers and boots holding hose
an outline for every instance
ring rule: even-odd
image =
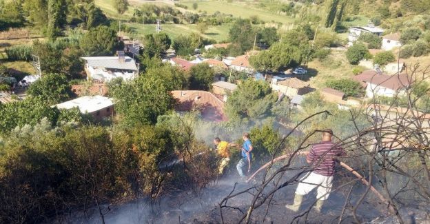
[[[294,204],[286,205],[289,210],[297,212],[303,201],[303,195],[308,194],[311,190],[317,189],[316,212],[321,212],[324,201],[329,197],[331,185],[333,184],[334,166],[337,156],[346,156],[342,147],[336,146],[331,141],[333,131],[326,129],[323,131],[323,141],[312,145],[306,161],[314,168],[312,172],[305,175],[297,185]]]

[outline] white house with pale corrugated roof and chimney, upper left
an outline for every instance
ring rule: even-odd
[[[118,52],[118,55],[113,57],[83,57],[82,59],[86,61],[87,79],[102,82],[108,82],[115,78],[134,79],[139,74],[136,62],[134,59],[124,56],[124,52]]]

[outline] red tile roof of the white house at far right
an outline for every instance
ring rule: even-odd
[[[362,72],[361,74],[353,77],[353,79],[362,82],[364,87],[367,86],[367,83],[372,83],[374,85],[380,85],[391,90],[405,88],[410,83],[406,74],[391,76],[388,74],[378,74],[373,70]]]

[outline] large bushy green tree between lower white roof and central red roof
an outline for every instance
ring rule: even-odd
[[[174,99],[163,79],[140,76],[133,81],[115,79],[109,83],[109,94],[115,100],[115,111],[129,126],[156,123],[158,116],[172,110]]]

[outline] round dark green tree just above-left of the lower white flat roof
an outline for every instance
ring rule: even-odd
[[[28,94],[32,97],[40,97],[50,104],[55,104],[70,99],[72,91],[65,75],[43,74],[41,79],[30,85]]]

